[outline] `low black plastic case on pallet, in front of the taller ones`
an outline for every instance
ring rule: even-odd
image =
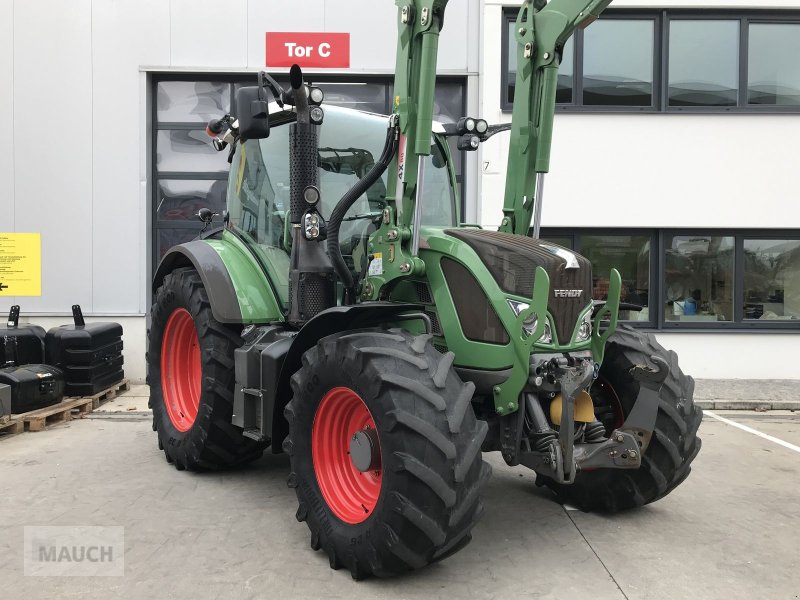
[[[0,369],[0,383],[11,386],[14,414],[58,404],[64,398],[64,373],[50,365]]]

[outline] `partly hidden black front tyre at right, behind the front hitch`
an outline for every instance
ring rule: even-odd
[[[703,411],[692,400],[694,379],[684,375],[678,356],[665,350],[652,334],[621,325],[609,338],[597,381],[592,386],[595,414],[609,435],[633,408],[639,384],[630,375],[634,365],[655,367],[650,357],[667,361],[670,373],[661,387],[658,416],[650,445],[636,470],[578,471],[572,485],[537,475],[537,483],[551,488],[559,500],[584,511],[613,513],[655,502],[688,477],[700,451],[697,430]]]

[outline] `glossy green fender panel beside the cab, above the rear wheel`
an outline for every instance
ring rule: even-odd
[[[275,297],[273,286],[264,277],[264,270],[251,252],[253,246],[246,246],[228,231],[223,231],[222,239],[209,239],[206,243],[219,254],[233,281],[242,311],[242,323],[282,321],[283,310]],[[285,280],[288,270],[282,276]]]

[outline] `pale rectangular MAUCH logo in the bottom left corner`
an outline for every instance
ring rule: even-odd
[[[25,575],[125,574],[124,527],[25,527]]]

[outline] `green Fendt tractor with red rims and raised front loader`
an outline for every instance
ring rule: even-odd
[[[482,452],[614,512],[675,489],[700,448],[675,354],[617,326],[619,273],[593,300],[589,261],[539,239],[561,51],[610,0],[522,5],[499,231],[460,224],[448,138],[474,150],[508,127],[433,121],[447,0],[397,3],[391,116],[323,108],[295,66],[291,89],[262,72],[209,124],[231,163],[223,225],[202,210],[207,230],[164,257],[149,330],[167,461],[287,453],[311,547],[355,578],[464,547]]]

